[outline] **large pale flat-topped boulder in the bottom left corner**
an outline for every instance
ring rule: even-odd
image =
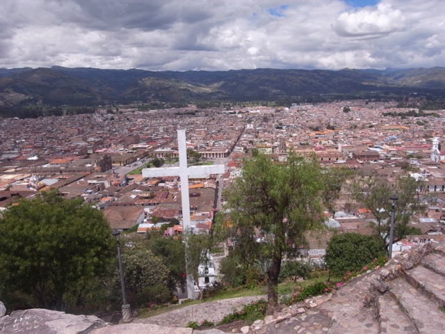
[[[95,328],[108,326],[93,315],[67,315],[41,308],[15,311],[1,320],[0,334],[86,334]]]

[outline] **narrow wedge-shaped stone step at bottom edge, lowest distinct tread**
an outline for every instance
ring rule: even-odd
[[[379,296],[378,312],[380,333],[419,334],[411,319],[399,308],[396,300],[389,294]]]

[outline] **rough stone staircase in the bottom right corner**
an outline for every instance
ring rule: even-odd
[[[445,244],[423,244],[323,304],[328,333],[445,333]]]

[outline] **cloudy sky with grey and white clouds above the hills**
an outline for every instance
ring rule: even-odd
[[[1,0],[0,67],[445,66],[444,0]]]

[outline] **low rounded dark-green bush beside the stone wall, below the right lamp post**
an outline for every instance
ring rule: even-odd
[[[336,234],[326,248],[326,264],[335,276],[360,271],[374,259],[385,256],[382,238],[359,233]]]

